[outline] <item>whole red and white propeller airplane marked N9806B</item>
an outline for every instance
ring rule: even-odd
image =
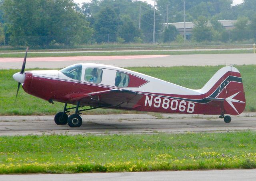
[[[22,84],[24,91],[31,95],[50,103],[65,103],[54,121],[62,125],[68,123],[70,127],[80,127],[81,112],[96,108],[220,115],[229,123],[231,117],[224,114],[238,115],[246,104],[240,72],[233,66],[221,68],[202,89],[192,90],[102,64],[74,64],[60,71],[24,72],[25,64],[26,56],[21,72],[13,75],[18,90]],[[67,104],[76,106],[67,108]],[[68,117],[70,109],[75,109],[75,113]]]

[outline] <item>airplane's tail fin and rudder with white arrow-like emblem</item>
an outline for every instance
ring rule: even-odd
[[[199,91],[205,94],[206,99],[223,101],[223,114],[238,115],[244,111],[244,86],[240,72],[233,66],[218,70]]]

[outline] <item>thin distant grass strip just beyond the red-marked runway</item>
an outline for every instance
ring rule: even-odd
[[[125,56],[125,55],[188,55],[188,54],[249,54],[252,50],[221,50],[221,51],[158,51],[148,52],[88,52],[88,53],[28,53],[30,57],[61,57],[61,56]],[[24,58],[24,52],[20,54],[0,54],[0,58]]]

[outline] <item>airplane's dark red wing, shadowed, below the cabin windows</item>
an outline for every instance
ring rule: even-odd
[[[80,105],[90,105],[93,107],[110,108],[135,108],[139,107],[138,101],[143,95],[129,90],[112,89],[98,91],[87,94],[76,94],[69,97],[70,101],[80,101]]]

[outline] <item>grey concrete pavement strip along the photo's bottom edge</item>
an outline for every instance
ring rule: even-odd
[[[256,170],[0,175],[0,181],[255,181]]]

